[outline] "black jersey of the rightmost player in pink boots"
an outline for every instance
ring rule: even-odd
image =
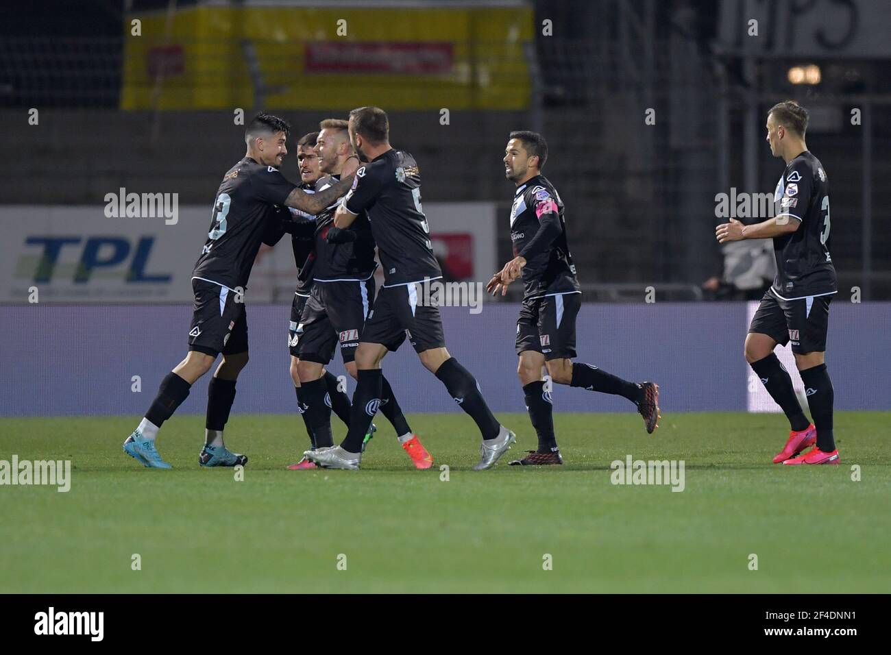
[[[773,199],[780,203],[778,218],[801,221],[795,232],[773,237],[773,292],[793,300],[837,291],[830,257],[829,180],[820,160],[805,150],[789,161]]]

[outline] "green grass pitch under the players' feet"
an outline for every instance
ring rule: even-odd
[[[526,415],[499,418],[519,435],[511,455],[534,447]],[[176,416],[162,430],[173,471],[123,454],[133,417],[0,420],[0,459],[73,467],[69,493],[0,487],[0,592],[891,587],[891,413],[838,413],[842,465],[819,467],[771,463],[788,430],[777,415],[666,413],[650,437],[634,414],[559,414],[567,465],[509,467],[505,458],[483,472],[469,470],[478,458],[469,418],[409,419],[436,458],[429,471],[410,468],[380,416],[362,471],[285,471],[307,441],[298,418],[235,416],[227,445],[250,456],[244,481],[199,468],[203,417]],[[609,463],[626,454],[684,460],[685,490],[612,485]],[[131,569],[133,553],[141,570]],[[347,570],[337,569],[339,553]]]

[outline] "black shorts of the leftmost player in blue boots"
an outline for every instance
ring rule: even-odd
[[[248,350],[248,314],[243,297],[214,282],[192,280],[195,300],[189,325],[189,349],[205,355],[233,355]]]

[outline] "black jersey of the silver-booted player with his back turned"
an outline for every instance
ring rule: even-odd
[[[390,149],[364,164],[344,207],[351,214],[367,213],[384,286],[442,277],[421,209],[421,172],[411,154]]]

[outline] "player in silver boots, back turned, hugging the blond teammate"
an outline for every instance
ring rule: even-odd
[[[377,107],[349,112],[349,138],[359,159],[367,163],[356,171],[356,182],[337,209],[334,225],[346,229],[367,212],[384,286],[356,348],[357,384],[347,438],[340,446],[307,452],[307,457],[331,468],[359,468],[363,436],[382,396],[380,362],[407,335],[421,364],[446,385],[482,432],[482,457],[474,470],[491,468],[517,438],[495,420],[477,381],[446,350],[439,307],[418,302],[415,284],[442,277],[421,209],[418,164],[408,152],[390,146],[387,114]]]

